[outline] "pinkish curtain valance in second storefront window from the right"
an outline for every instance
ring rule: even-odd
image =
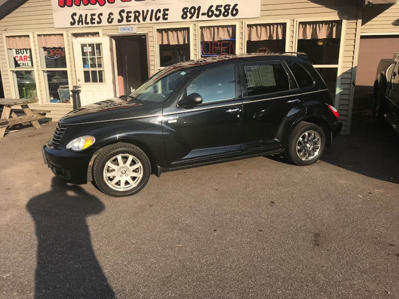
[[[285,39],[285,24],[253,24],[247,26],[247,40]]]

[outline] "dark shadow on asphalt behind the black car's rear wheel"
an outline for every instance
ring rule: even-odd
[[[282,156],[268,157],[288,163]],[[399,184],[399,136],[387,124],[354,119],[351,135],[339,135],[322,161],[358,174]]]

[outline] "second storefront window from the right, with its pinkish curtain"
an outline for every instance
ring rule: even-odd
[[[246,52],[269,53],[285,51],[286,24],[251,24],[247,26]]]

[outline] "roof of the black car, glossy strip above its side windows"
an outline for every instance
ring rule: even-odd
[[[297,58],[297,59],[305,59],[307,60],[307,55],[302,52],[278,52],[278,53],[250,53],[244,55],[220,55],[220,56],[211,56],[206,58],[200,58],[195,60],[188,60],[184,62],[179,62],[174,65],[171,65],[173,68],[192,68],[203,66],[207,64],[220,63],[226,61],[236,61],[236,60],[251,60],[250,58],[259,58],[265,57],[265,60],[271,60],[276,58]]]

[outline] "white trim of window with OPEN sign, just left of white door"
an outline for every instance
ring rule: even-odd
[[[45,35],[45,34],[62,34],[63,38],[64,38],[64,46],[65,46],[65,60],[66,60],[66,68],[44,68],[41,65],[40,62],[40,57],[39,57],[39,53],[40,53],[40,48],[39,48],[39,43],[38,43],[38,39],[37,36],[38,35]],[[72,84],[72,77],[71,77],[71,65],[70,65],[70,57],[69,57],[69,44],[67,43],[67,39],[66,39],[66,31],[38,31],[34,33],[34,41],[37,45],[37,63],[38,63],[38,69],[39,69],[39,76],[40,76],[40,84],[42,85],[41,87],[43,87],[42,89],[42,95],[40,97],[40,104],[42,105],[65,105],[65,106],[72,106],[72,101],[70,101],[70,103],[50,103],[50,99],[47,99],[47,87],[45,86],[45,82],[46,79],[44,78],[44,72],[48,71],[48,70],[62,70],[62,71],[66,71],[67,75],[68,75],[68,88],[69,90],[71,90],[73,88],[73,84]]]

